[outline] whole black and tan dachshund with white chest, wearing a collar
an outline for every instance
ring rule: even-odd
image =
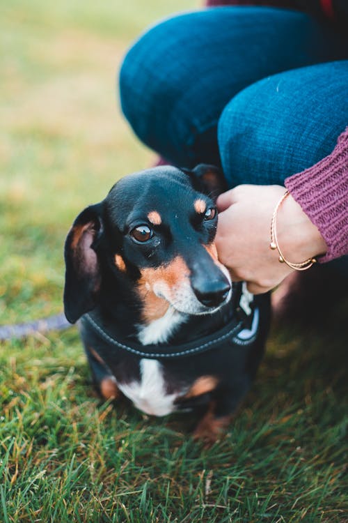
[[[216,252],[219,169],[153,167],[120,179],[65,241],[65,316],[100,395],[154,416],[194,411],[213,442],[251,386],[269,296],[232,283]]]

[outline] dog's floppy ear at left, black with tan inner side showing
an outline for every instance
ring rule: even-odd
[[[103,232],[101,210],[101,204],[84,209],[65,240],[64,312],[72,324],[97,303],[101,275],[95,245]]]

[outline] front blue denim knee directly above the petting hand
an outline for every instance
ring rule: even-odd
[[[267,77],[232,98],[218,126],[229,185],[283,185],[329,155],[347,125],[347,80],[347,61],[324,63]]]

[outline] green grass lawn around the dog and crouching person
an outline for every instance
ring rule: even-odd
[[[147,24],[192,3],[0,6],[0,318],[61,310],[72,219],[152,161],[122,120],[117,64]],[[188,4],[190,4],[188,6]],[[180,416],[102,404],[75,328],[0,347],[0,521],[347,521],[347,307],[273,329],[225,439]]]

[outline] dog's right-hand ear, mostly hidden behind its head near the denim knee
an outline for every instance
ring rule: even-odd
[[[192,170],[182,170],[189,174],[194,188],[207,193],[214,200],[228,189],[223,172],[215,165],[200,163]]]

